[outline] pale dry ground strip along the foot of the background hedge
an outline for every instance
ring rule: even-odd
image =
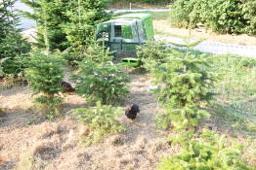
[[[153,20],[156,37],[188,38],[190,30],[172,27],[168,19]],[[241,46],[256,46],[256,36],[217,34],[205,29],[192,29],[192,39],[205,39],[206,41],[235,44]]]

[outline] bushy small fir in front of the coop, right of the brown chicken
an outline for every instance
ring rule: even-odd
[[[129,79],[116,65],[102,65],[85,59],[79,62],[79,72],[73,79],[78,94],[91,103],[114,104],[128,93]]]

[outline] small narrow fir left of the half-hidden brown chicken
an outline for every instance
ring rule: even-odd
[[[33,51],[29,67],[25,70],[25,76],[29,81],[34,94],[39,94],[35,102],[39,104],[41,112],[49,118],[60,115],[62,98],[59,92],[63,87],[64,59],[60,52],[49,55],[42,51]]]

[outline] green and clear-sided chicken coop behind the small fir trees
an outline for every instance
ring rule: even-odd
[[[136,47],[153,40],[152,17],[128,14],[97,25],[97,38],[103,38],[115,59],[136,57]]]

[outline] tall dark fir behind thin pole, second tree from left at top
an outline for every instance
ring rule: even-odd
[[[21,0],[22,3],[33,9],[33,13],[21,12],[24,17],[34,19],[37,24],[36,46],[45,49],[45,28],[47,27],[49,50],[59,49],[64,51],[68,45],[61,24],[69,19],[64,15],[70,8],[69,0]],[[47,26],[45,25],[47,23]]]

